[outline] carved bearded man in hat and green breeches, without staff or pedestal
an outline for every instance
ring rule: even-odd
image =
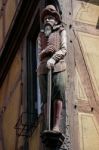
[[[46,109],[47,75],[48,70],[51,69],[51,102],[53,107],[52,130],[59,132],[60,116],[63,101],[65,100],[66,87],[66,64],[64,60],[67,53],[66,31],[61,23],[61,16],[53,5],[46,6],[42,11],[41,20],[44,23],[44,30],[39,34],[40,64],[38,66],[38,75],[41,99]]]

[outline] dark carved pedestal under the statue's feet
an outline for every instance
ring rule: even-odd
[[[61,147],[64,142],[65,136],[61,132],[44,130],[41,133],[42,143],[49,148]]]

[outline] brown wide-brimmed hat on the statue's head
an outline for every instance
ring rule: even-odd
[[[53,6],[53,5],[47,5],[42,13],[41,13],[41,20],[42,22],[44,22],[44,17],[47,16],[47,15],[52,15],[56,18],[56,20],[58,21],[58,23],[61,22],[61,16],[60,14],[58,13],[58,11],[56,10],[56,8]]]

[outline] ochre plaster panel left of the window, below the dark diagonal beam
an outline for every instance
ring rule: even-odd
[[[6,107],[3,113],[3,138],[7,150],[15,149],[15,125],[19,115],[21,101],[21,52],[18,51],[11,68],[0,89],[0,107]]]

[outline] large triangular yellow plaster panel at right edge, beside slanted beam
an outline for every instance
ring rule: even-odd
[[[99,36],[79,33],[79,40],[83,47],[83,55],[94,93],[97,96],[97,102],[99,102]]]

